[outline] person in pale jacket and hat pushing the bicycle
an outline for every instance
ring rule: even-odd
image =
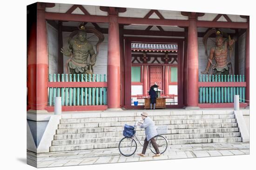
[[[158,146],[157,146],[157,144],[155,142],[155,138],[154,138],[157,135],[155,123],[152,119],[150,119],[148,117],[148,113],[146,113],[146,112],[141,113],[141,118],[142,118],[142,120],[144,120],[144,122],[143,123],[138,122],[138,125],[141,126],[141,128],[145,128],[146,139],[144,140],[142,152],[139,153],[138,155],[141,157],[145,157],[145,153],[146,153],[148,143],[150,140],[151,144],[153,145],[155,152],[156,152],[156,154],[153,157],[159,157],[161,154],[159,152]]]

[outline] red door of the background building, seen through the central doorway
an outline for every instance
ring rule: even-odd
[[[162,66],[150,66],[150,87],[156,84],[162,90]]]

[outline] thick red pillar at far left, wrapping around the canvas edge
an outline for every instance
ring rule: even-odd
[[[45,3],[37,3],[36,24],[32,26],[27,59],[28,105],[32,110],[47,106],[48,51]]]

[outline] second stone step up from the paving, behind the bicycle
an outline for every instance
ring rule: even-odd
[[[194,134],[164,134],[167,139],[201,139],[201,138],[233,138],[240,137],[240,132],[227,133],[194,133]],[[145,135],[137,136],[139,140],[143,141]],[[81,145],[90,143],[111,143],[119,142],[123,136],[107,137],[107,138],[84,138],[84,139],[64,139],[53,140],[52,146],[57,145]]]

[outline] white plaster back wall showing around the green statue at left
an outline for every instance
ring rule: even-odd
[[[63,32],[63,46],[67,48],[67,39],[71,32]],[[107,75],[107,63],[108,63],[108,34],[104,35],[104,41],[101,43],[99,47],[99,54],[96,58],[96,63],[94,65],[94,74],[106,74]],[[92,37],[93,36],[93,37]],[[90,38],[91,37],[91,38]],[[96,53],[96,44],[98,42],[97,36],[94,36],[93,33],[87,33],[88,41],[94,45],[94,51]],[[66,62],[69,59],[69,57],[64,55],[63,59],[63,68],[64,68],[64,74],[67,74],[66,71]],[[108,77],[108,76],[107,76]],[[102,77],[103,78],[103,77]]]

